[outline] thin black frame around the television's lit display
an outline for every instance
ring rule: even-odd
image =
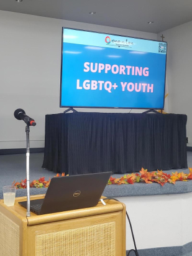
[[[61,59],[61,72],[60,72],[60,108],[109,108],[109,109],[138,109],[138,110],[163,110],[165,107],[165,86],[164,86],[164,93],[163,93],[163,107],[162,108],[135,108],[135,107],[87,107],[87,106],[62,106],[62,70],[63,70],[63,31],[64,29],[73,29],[75,31],[85,31],[85,32],[93,32],[93,33],[98,33],[98,34],[108,34],[106,32],[98,32],[98,31],[88,31],[85,29],[74,29],[71,27],[62,27],[62,59]],[[134,39],[142,39],[142,40],[147,40],[147,41],[155,41],[155,42],[164,42],[167,44],[165,41],[160,41],[160,40],[153,40],[153,39],[145,39],[141,37],[130,37],[130,36],[123,36],[119,34],[111,34],[109,33],[109,36],[121,36],[121,37],[129,37],[129,38],[134,38]],[[167,73],[167,48],[166,48],[166,61],[165,61],[165,82],[166,82],[166,73]],[[165,83],[164,83],[165,85]]]

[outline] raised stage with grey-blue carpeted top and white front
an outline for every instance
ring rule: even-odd
[[[43,154],[30,156],[30,181],[55,173],[41,168]],[[192,167],[192,152],[188,152],[188,166]],[[172,171],[188,172],[188,169]],[[169,173],[170,171],[166,171]],[[25,179],[25,154],[0,156],[0,198],[2,186]],[[114,174],[119,178],[122,174]],[[30,189],[30,194],[44,194],[47,189]],[[127,207],[134,229],[139,256],[192,256],[192,181],[175,185],[144,184],[106,186],[104,196],[119,197]],[[18,196],[26,196],[18,189]],[[127,250],[134,248],[127,224]],[[132,255],[130,255],[132,256]]]

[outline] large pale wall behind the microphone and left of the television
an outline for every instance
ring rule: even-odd
[[[17,108],[37,121],[30,128],[32,148],[44,146],[45,115],[65,110],[59,107],[62,27],[157,39],[147,32],[0,11],[0,148],[25,148],[24,122],[13,116]]]

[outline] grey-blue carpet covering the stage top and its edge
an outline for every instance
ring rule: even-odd
[[[43,153],[30,154],[30,181],[45,177],[45,180],[55,176],[55,173],[42,169]],[[192,152],[188,152],[188,166],[192,167]],[[172,171],[184,171],[189,173],[188,169],[177,169],[165,171],[171,173]],[[2,186],[11,185],[12,182],[21,181],[25,179],[25,154],[9,154],[0,156],[0,199],[2,199]],[[114,177],[121,177],[122,174],[114,174]],[[30,189],[30,194],[43,194],[47,189]],[[121,186],[106,186],[104,196],[107,197],[121,197],[121,196],[144,196],[153,194],[176,194],[192,191],[192,181],[182,183],[180,181],[173,184],[143,184],[138,183],[134,185]],[[26,189],[17,189],[16,196],[25,196]]]

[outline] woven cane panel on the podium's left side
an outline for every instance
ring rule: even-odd
[[[19,256],[19,225],[0,212],[0,256]]]

